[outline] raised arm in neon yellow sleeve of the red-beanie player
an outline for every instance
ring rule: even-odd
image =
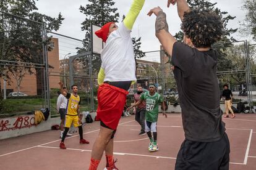
[[[130,7],[129,12],[126,15],[126,18],[124,18],[124,25],[127,29],[132,30],[132,26],[134,26],[135,20],[138,17],[140,10],[144,5],[144,2],[145,0],[134,0],[134,2],[132,3],[132,6]]]

